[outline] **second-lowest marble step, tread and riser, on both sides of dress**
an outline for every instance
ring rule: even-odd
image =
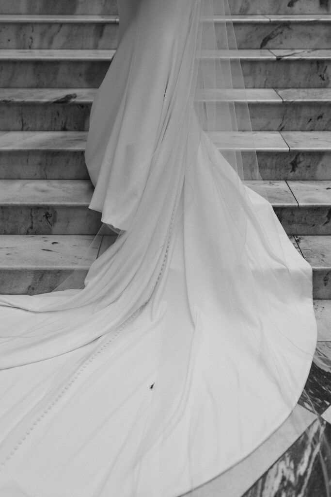
[[[266,197],[289,235],[331,235],[331,181],[246,184]],[[88,209],[89,180],[0,180],[0,234],[93,235],[100,214]]]

